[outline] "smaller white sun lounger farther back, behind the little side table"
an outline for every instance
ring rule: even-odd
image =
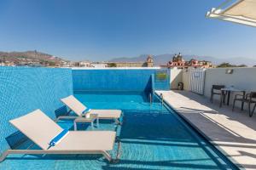
[[[88,109],[83,105],[78,99],[73,95],[68,96],[67,98],[61,99],[61,101],[67,105],[67,107],[73,111],[76,115],[82,116],[83,112]],[[95,110],[92,109],[87,114],[96,115],[99,119],[114,119],[116,122],[120,123],[119,118],[122,115],[121,110]],[[61,118],[70,118],[71,116],[60,116],[57,120]]]

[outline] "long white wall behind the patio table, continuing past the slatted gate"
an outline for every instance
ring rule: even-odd
[[[256,68],[228,68],[233,69],[232,74],[226,74],[227,68],[213,68],[206,70],[205,88],[204,95],[210,98],[212,85],[225,85],[226,87],[234,86],[241,90],[247,91],[247,93],[255,91],[256,92]],[[190,71],[181,71],[177,74],[177,71],[171,71],[171,75],[178,75],[178,80],[180,80],[180,75],[184,84],[184,90],[189,90],[189,77]],[[177,82],[172,81],[171,84],[177,84]],[[173,87],[175,87],[173,85]],[[230,105],[233,103],[235,95],[230,96]],[[214,100],[219,100],[219,96],[215,95]],[[217,101],[218,102],[218,101]],[[236,102],[236,107],[241,107],[240,102]],[[245,105],[245,110],[247,110],[247,105]]]

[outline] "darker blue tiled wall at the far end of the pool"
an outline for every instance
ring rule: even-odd
[[[93,69],[73,70],[74,91],[149,91],[151,75],[160,69]],[[169,73],[170,71],[166,71]],[[155,89],[170,89],[166,82],[155,82]]]

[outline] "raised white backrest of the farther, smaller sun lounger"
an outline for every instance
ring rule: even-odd
[[[76,99],[73,95],[70,95],[67,98],[63,98],[61,99],[61,101],[78,116],[81,116],[83,111],[87,108],[85,105],[79,102],[79,100]]]

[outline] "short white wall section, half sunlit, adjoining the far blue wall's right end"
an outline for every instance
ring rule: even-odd
[[[172,68],[170,69],[171,77],[170,77],[170,84],[172,89],[177,89],[177,83],[178,82],[183,82],[183,70],[182,69],[177,69],[177,68]]]

